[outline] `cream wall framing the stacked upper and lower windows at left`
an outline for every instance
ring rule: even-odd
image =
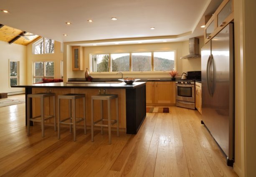
[[[61,60],[63,60],[63,53],[61,53],[61,43],[54,41],[53,54],[33,54],[33,43],[27,45],[27,83],[33,83],[33,62],[34,61],[54,61],[54,78],[61,79]],[[72,66],[71,66],[72,67]]]

